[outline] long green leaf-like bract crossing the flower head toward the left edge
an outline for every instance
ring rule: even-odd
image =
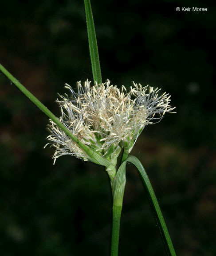
[[[91,150],[87,145],[83,144],[78,138],[70,132],[70,130],[64,126],[64,124],[46,107],[41,103],[31,92],[29,92],[24,85],[22,85],[11,73],[9,73],[1,64],[0,64],[0,71],[8,77],[9,80],[13,84],[16,85],[20,89],[21,92],[24,93],[25,96],[29,98],[42,112],[44,112],[55,124],[59,126],[65,132],[71,140],[73,140],[80,148],[82,148],[83,152],[86,153],[89,160],[95,164],[100,164],[106,166],[109,169],[113,169],[113,164],[107,160],[106,158],[100,156],[97,152]]]

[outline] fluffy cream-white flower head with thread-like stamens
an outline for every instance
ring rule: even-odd
[[[77,92],[66,84],[70,95],[59,95],[61,122],[82,141],[102,156],[112,160],[118,157],[121,148],[130,153],[144,127],[162,119],[165,112],[173,112],[168,93],[159,95],[161,89],[135,84],[130,92],[104,84],[84,86],[79,81]],[[73,155],[83,160],[88,156],[58,126],[50,120],[47,137],[56,148],[53,158]],[[54,163],[55,163],[54,160]]]

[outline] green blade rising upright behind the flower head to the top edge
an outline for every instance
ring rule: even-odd
[[[97,81],[98,84],[102,84],[100,60],[99,60],[99,54],[98,54],[98,44],[96,39],[90,0],[84,0],[84,4],[85,4],[85,11],[86,11],[86,24],[87,24],[93,79],[94,79],[94,83]]]

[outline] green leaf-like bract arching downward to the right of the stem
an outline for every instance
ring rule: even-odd
[[[168,232],[168,229],[165,224],[164,217],[162,215],[160,206],[157,202],[157,198],[155,196],[154,190],[150,183],[149,177],[148,177],[147,173],[145,172],[144,167],[142,166],[140,160],[138,160],[137,157],[135,157],[135,156],[128,156],[128,158],[125,162],[131,162],[138,169],[138,171],[141,175],[142,181],[145,185],[146,191],[148,193],[149,201],[150,201],[151,207],[153,209],[154,216],[155,216],[156,222],[158,224],[161,238],[165,245],[165,250],[167,252],[167,255],[176,256],[175,250],[173,248],[173,243],[170,239],[169,232]]]

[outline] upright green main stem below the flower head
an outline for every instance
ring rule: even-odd
[[[113,182],[113,224],[111,239],[111,256],[118,256],[118,241],[120,231],[120,220],[122,212],[122,202],[126,184],[126,162],[118,168],[118,172]]]

